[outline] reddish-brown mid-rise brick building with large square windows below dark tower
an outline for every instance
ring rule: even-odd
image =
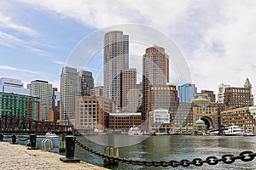
[[[102,131],[108,127],[109,113],[116,111],[115,100],[104,97],[76,97],[75,104],[75,127],[82,133],[90,133],[93,129]]]

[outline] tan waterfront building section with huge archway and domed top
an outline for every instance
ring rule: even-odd
[[[192,99],[192,111],[193,124],[198,119],[201,119],[201,121],[205,122],[207,128],[218,127],[218,107],[212,105],[208,99],[204,99],[204,97]]]

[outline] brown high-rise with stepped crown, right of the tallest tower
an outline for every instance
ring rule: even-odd
[[[143,55],[143,122],[148,118],[149,87],[166,85],[167,82],[169,82],[169,56],[165,53],[165,48],[158,46],[146,48],[146,53]]]

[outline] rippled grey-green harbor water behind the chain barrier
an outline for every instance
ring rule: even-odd
[[[61,138],[38,138],[37,146],[42,148],[42,140],[51,139],[54,144],[53,152],[59,153],[59,141]],[[93,150],[103,152],[106,145],[100,144],[99,141],[105,143],[104,139],[108,139],[106,135],[97,136],[81,136],[77,137],[79,142],[89,146]],[[5,139],[5,141],[11,141]],[[96,141],[96,142],[92,142]],[[26,145],[26,142],[17,140],[18,144]],[[242,151],[256,151],[256,136],[193,136],[193,135],[163,135],[150,136],[143,135],[114,135],[114,144],[119,147],[119,157],[140,161],[181,161],[183,159],[192,161],[195,158],[205,160],[207,156],[217,156],[220,158],[225,154],[238,156]],[[124,146],[125,145],[125,146]],[[103,167],[103,159],[94,156],[88,151],[83,150],[78,145],[75,148],[75,157],[91,164]],[[208,165],[205,163],[201,167],[190,165],[189,167],[146,167],[135,166],[131,164],[120,163],[118,166],[108,167],[109,169],[256,169],[256,159],[253,161],[236,160],[232,164],[224,164],[219,162],[217,165]]]

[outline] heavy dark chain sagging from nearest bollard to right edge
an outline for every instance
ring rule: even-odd
[[[225,164],[231,164],[235,162],[236,160],[241,161],[253,161],[254,157],[256,157],[256,153],[253,153],[253,151],[242,151],[239,156],[233,156],[230,154],[221,156],[221,158],[218,158],[216,156],[208,156],[206,160],[202,160],[201,158],[195,158],[192,161],[183,159],[181,161],[138,161],[138,160],[129,160],[125,158],[119,158],[114,156],[108,156],[106,154],[102,154],[100,151],[92,150],[88,146],[80,143],[77,139],[74,139],[75,144],[78,144],[81,148],[84,150],[89,151],[91,154],[96,156],[101,156],[103,158],[108,158],[113,161],[120,161],[122,163],[127,163],[131,165],[138,165],[138,166],[154,166],[154,167],[177,167],[177,166],[183,166],[183,167],[189,167],[190,165],[195,165],[197,167],[202,166],[204,163],[207,163],[208,165],[216,165],[219,162],[224,162]]]

